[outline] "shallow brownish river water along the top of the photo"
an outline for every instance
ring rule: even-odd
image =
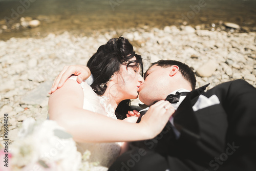
[[[0,0],[0,26],[26,16],[41,21],[38,28],[2,30],[0,39],[170,25],[212,29],[223,22],[256,31],[255,7],[256,0]]]

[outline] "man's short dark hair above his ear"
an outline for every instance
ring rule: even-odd
[[[190,83],[192,90],[196,88],[196,77],[195,73],[185,64],[177,60],[159,60],[157,62],[152,63],[151,67],[157,65],[162,68],[168,68],[171,66],[178,66],[181,75]]]

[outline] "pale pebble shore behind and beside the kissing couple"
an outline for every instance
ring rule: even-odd
[[[4,114],[8,114],[9,140],[17,137],[28,117],[44,120],[48,113],[48,91],[66,65],[86,65],[97,48],[108,39],[128,38],[145,60],[173,59],[187,63],[197,74],[197,87],[209,88],[234,79],[245,79],[256,87],[256,33],[178,29],[166,26],[121,32],[74,36],[69,32],[44,38],[11,38],[0,41],[0,143],[3,145]],[[135,100],[133,103],[137,103]]]

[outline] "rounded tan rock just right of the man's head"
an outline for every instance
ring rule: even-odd
[[[215,61],[208,61],[199,67],[196,74],[200,77],[210,77],[216,71],[218,63]]]

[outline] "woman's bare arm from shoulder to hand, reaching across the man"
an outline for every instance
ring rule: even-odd
[[[49,99],[50,119],[65,127],[78,142],[121,142],[157,136],[174,113],[167,101],[156,103],[140,123],[115,120],[82,109],[83,91],[74,80],[67,80]],[[169,110],[165,110],[166,106]]]

